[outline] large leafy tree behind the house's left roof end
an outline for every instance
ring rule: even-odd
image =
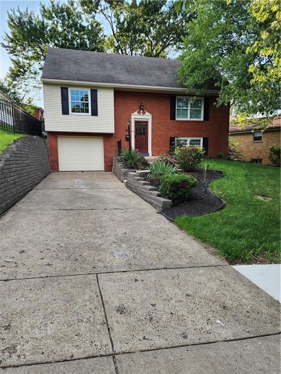
[[[94,14],[83,14],[73,0],[40,4],[39,15],[28,8],[11,9],[7,23],[9,32],[1,45],[12,61],[8,81],[23,92],[40,88],[40,71],[48,47],[104,50],[100,22]]]

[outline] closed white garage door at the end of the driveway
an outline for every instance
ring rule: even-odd
[[[103,171],[103,139],[58,136],[60,171]]]

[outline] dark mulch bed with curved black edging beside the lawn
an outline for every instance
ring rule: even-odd
[[[192,196],[187,202],[163,210],[163,213],[170,219],[174,220],[182,215],[187,217],[199,216],[220,209],[223,206],[221,200],[207,189],[208,182],[222,176],[223,173],[221,171],[208,170],[206,181],[203,180],[203,169],[198,168],[188,174],[198,180],[198,185],[193,188]],[[146,180],[152,186],[159,187],[156,181],[151,181],[147,178]]]

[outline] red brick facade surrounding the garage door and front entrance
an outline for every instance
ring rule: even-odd
[[[127,134],[127,120],[131,114],[139,110],[144,104],[145,111],[152,114],[152,155],[166,153],[169,150],[170,137],[208,137],[208,156],[215,157],[222,152],[227,157],[229,108],[214,107],[214,97],[210,97],[209,121],[171,121],[170,120],[170,94],[168,93],[141,93],[141,92],[114,92],[115,133],[76,133],[76,132],[48,132],[48,145],[50,164],[53,171],[59,171],[57,136],[103,136],[104,168],[112,169],[112,157],[116,155],[117,141],[122,140],[122,148],[128,148],[125,141]]]

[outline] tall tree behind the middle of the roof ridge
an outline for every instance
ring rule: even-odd
[[[185,12],[173,1],[80,0],[84,12],[99,13],[110,27],[107,49],[121,55],[166,57],[181,44]]]

